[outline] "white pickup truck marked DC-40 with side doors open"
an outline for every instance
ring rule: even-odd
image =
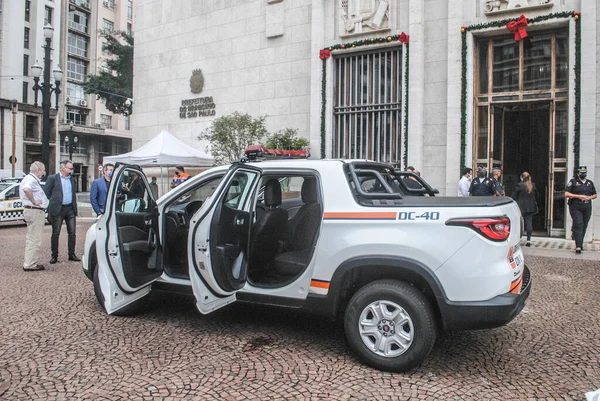
[[[531,290],[510,198],[431,196],[353,160],[234,163],[123,200],[136,175],[117,165],[86,236],[83,270],[109,314],[191,287],[203,314],[239,301],[331,315],[365,363],[406,371],[439,329],[507,324]]]

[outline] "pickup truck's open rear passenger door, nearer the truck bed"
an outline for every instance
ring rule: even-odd
[[[253,198],[261,170],[235,164],[190,227],[190,280],[198,310],[207,314],[235,301],[246,284]]]

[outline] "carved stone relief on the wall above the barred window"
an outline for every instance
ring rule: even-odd
[[[340,35],[390,29],[388,0],[340,0]]]

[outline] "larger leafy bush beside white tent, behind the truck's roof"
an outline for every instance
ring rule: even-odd
[[[198,140],[206,140],[206,151],[215,158],[215,163],[228,164],[238,161],[246,147],[259,144],[267,135],[266,116],[252,118],[249,114],[234,112],[213,120]]]

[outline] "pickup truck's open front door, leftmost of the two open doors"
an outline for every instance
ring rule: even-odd
[[[159,213],[141,168],[118,166],[96,225],[98,266],[94,287],[110,314],[122,312],[150,292],[162,274]]]

